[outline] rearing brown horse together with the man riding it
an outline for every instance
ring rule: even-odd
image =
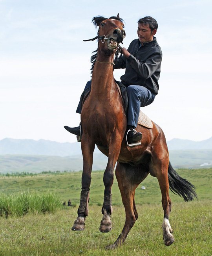
[[[103,174],[103,217],[99,230],[106,233],[112,229],[110,219],[113,211],[111,189],[115,164],[117,164],[115,176],[126,213],[124,227],[119,237],[106,248],[114,249],[121,245],[137,220],[135,189],[148,174],[156,177],[159,182],[164,210],[163,240],[164,244],[169,246],[174,243],[174,236],[169,223],[172,206],[169,188],[182,196],[185,201],[190,201],[196,197],[196,192],[194,186],[188,180],[180,177],[172,167],[163,130],[154,122],[152,122],[152,128],[137,125],[140,106],[152,103],[158,91],[157,80],[160,74],[162,53],[154,38],[157,22],[151,17],[139,20],[139,39],[132,41],[129,49],[123,50],[124,56],[116,61],[116,68],[126,68],[126,73],[121,77],[121,80],[127,86],[130,98],[128,121],[126,106],[124,106],[121,92],[117,86],[119,82],[116,83],[113,77],[114,56],[117,51],[119,52],[119,44],[125,37],[124,24],[119,15],[109,19],[102,16],[93,17],[92,22],[99,27],[99,30],[97,37],[90,40],[99,40],[96,54],[91,57],[93,72],[90,94],[87,93],[84,102],[82,102],[82,189],[77,210],[78,216],[71,230],[82,231],[85,229],[93,152],[97,146],[108,157],[108,163]],[[89,83],[86,86],[89,86]],[[127,124],[129,130],[125,137]],[[138,133],[132,130],[135,127]],[[74,134],[78,132],[77,135],[80,135],[82,130],[79,127],[66,128]],[[141,139],[141,133],[143,134],[143,143],[140,142],[137,147],[129,145],[127,139],[130,140],[131,144],[138,145],[134,142]],[[127,144],[129,147],[126,146]]]

